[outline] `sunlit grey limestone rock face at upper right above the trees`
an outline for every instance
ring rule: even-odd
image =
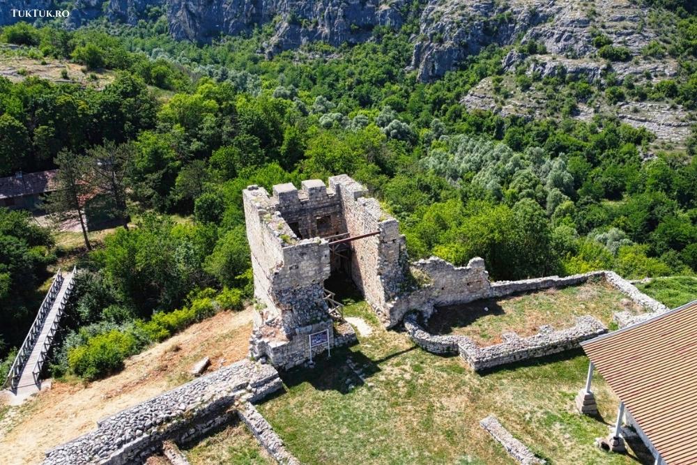
[[[594,29],[636,54],[656,38],[648,27],[638,27],[644,16],[629,0],[429,0],[411,68],[427,81],[487,45],[510,45],[518,38],[536,40],[550,54],[581,58],[595,54]],[[505,68],[515,59],[507,56]]]

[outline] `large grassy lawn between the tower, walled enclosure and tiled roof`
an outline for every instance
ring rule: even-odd
[[[363,317],[365,304],[347,312]],[[283,375],[286,392],[259,409],[307,464],[513,464],[480,427],[489,413],[551,464],[637,464],[595,448],[618,400],[595,379],[605,422],[575,412],[588,359],[576,352],[484,376],[457,357],[416,348],[404,333],[374,331],[314,369]],[[360,367],[366,379],[348,367]]]

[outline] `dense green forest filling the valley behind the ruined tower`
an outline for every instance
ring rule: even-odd
[[[271,33],[263,28],[196,45],[169,38],[163,20],[5,27],[1,40],[22,46],[6,55],[114,74],[100,90],[0,78],[0,175],[59,167],[76,195],[49,207],[79,210],[84,193],[99,188],[126,226],[78,257],[84,271],[54,374],[104,376],[192,321],[241,308],[251,284],[240,191],[250,184],[348,173],[400,220],[413,259],[436,254],[461,265],[480,256],[494,280],[595,269],[695,275],[694,131],[686,146],[645,160],[654,140],[647,130],[570,117],[597,95],[697,109],[697,17],[654,3],[671,8],[660,11],[676,32],[670,46],[645,53],[677,58],[679,75],[641,88],[611,76],[597,86],[544,78],[548,105],[567,114],[561,121],[461,105],[481,79],[503,75],[510,47],[417,82],[406,70],[413,21],[397,32],[378,27],[362,45],[314,44],[273,59],[257,53]],[[601,52],[611,47],[602,38],[598,45],[608,59],[621,54]],[[516,79],[526,86],[531,78]],[[109,172],[100,176],[103,160]],[[59,258],[51,234],[2,210],[0,257],[0,357],[11,362],[36,289]]]

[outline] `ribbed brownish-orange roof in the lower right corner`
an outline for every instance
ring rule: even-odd
[[[697,457],[697,300],[581,344],[670,465]]]

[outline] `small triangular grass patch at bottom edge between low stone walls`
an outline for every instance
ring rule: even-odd
[[[230,425],[185,451],[192,465],[270,465],[275,464],[245,425]]]

